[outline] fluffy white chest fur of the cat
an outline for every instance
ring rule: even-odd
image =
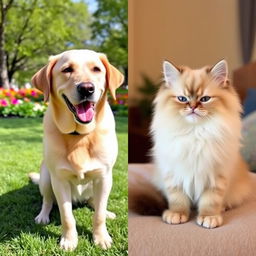
[[[209,127],[162,133],[158,165],[168,186],[178,186],[196,202],[206,187],[216,186],[216,176],[226,159],[228,134]],[[164,142],[165,141],[165,142]],[[165,143],[165,147],[163,147]]]

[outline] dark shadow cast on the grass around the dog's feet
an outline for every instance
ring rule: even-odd
[[[19,237],[20,233],[39,234],[41,237],[60,239],[61,223],[57,205],[54,205],[50,214],[50,224],[58,226],[59,232],[50,231],[44,225],[38,225],[34,219],[41,210],[42,197],[38,186],[28,185],[10,191],[0,196],[0,242]],[[73,207],[82,208],[84,205]],[[49,225],[50,225],[49,224]],[[83,235],[92,241],[92,230],[84,226],[77,226],[78,235]]]

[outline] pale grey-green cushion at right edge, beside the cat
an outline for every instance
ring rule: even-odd
[[[243,119],[241,153],[252,171],[256,171],[256,111]]]

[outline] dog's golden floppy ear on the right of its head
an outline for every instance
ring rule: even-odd
[[[106,82],[111,96],[116,99],[116,89],[123,83],[123,74],[111,65],[105,54],[100,54],[100,59],[106,68]]]

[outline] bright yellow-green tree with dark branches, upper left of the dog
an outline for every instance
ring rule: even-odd
[[[83,1],[0,0],[0,8],[0,86],[13,77],[23,82],[49,55],[82,48],[90,38]]]

